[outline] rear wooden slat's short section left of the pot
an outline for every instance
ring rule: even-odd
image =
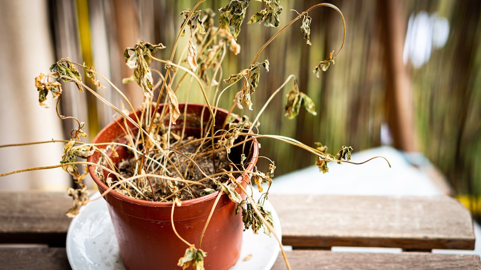
[[[66,192],[0,192],[0,243],[65,246],[70,207]]]

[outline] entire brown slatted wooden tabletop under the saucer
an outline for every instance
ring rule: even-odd
[[[481,269],[472,218],[440,195],[271,195],[292,269]],[[70,269],[65,239],[70,198],[58,192],[0,192],[0,269]],[[331,247],[393,247],[399,253],[332,252]],[[273,270],[286,269],[281,255]]]

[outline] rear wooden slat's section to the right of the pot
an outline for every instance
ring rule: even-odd
[[[474,249],[468,210],[448,196],[270,195],[285,245]]]

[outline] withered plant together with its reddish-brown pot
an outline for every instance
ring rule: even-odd
[[[251,95],[259,77],[263,70],[268,72],[270,68],[268,60],[257,61],[266,46],[296,22],[300,22],[300,30],[310,45],[308,12],[321,6],[337,11],[345,38],[341,11],[332,4],[320,3],[302,13],[296,12],[296,16],[259,49],[252,65],[222,78],[219,71],[225,55],[239,53],[236,40],[249,1],[231,0],[218,10],[218,20],[214,19],[211,10],[198,9],[204,1],[181,12],[183,23],[176,43],[170,48],[170,58],[156,56],[166,49],[162,44],[141,41],[125,50],[126,64],[133,69],[133,75],[126,80],[135,80],[139,94],[144,96],[139,109],[135,109],[122,91],[98,74],[94,67],[68,58],[53,64],[50,73],[35,78],[40,105],[45,106],[50,93],[58,99],[58,117],[77,123],[58,165],[80,186],[68,190],[73,207],[67,215],[75,216],[80,206],[89,202],[87,186],[82,183],[89,173],[109,204],[121,255],[128,269],[157,268],[159,265],[167,269],[190,266],[197,270],[228,269],[239,257],[241,234],[245,228],[252,228],[255,233],[272,233],[282,246],[280,236],[273,232],[271,213],[263,208],[269,189],[263,190],[262,184],[270,187],[275,165],[271,161],[267,172],[257,169],[257,138],[268,137],[307,150],[317,156],[316,165],[324,173],[328,171],[329,162],[349,162],[351,156],[351,147],[342,147],[332,155],[321,144],[310,147],[292,138],[258,133],[259,116],[273,96],[289,82],[293,82],[293,87],[288,93],[286,116],[294,118],[301,108],[316,114],[312,100],[299,90],[298,81],[292,75],[273,89],[256,119],[249,120],[233,113],[235,107],[251,109]],[[253,15],[248,24],[260,22],[278,27],[282,11],[279,1],[262,2],[265,8]],[[174,56],[181,51],[178,46],[182,39],[186,40],[186,48],[180,53],[181,60],[175,62]],[[343,44],[344,39],[337,53],[333,51],[328,59],[321,60],[313,73],[319,77],[321,70],[326,71],[334,64]],[[165,71],[152,69],[153,61],[160,62]],[[126,107],[112,105],[89,87],[80,75],[82,69],[91,85],[110,84],[123,97]],[[118,118],[91,143],[80,141],[87,136],[83,122],[60,113],[62,81],[74,83],[80,91],[87,90],[118,114]],[[219,99],[231,87],[238,91],[232,107],[217,107]],[[204,104],[179,103],[177,93],[192,88],[202,93]],[[79,157],[87,160],[77,161]],[[87,166],[88,172],[80,173],[80,165]],[[249,195],[253,184],[262,193],[259,200]]]

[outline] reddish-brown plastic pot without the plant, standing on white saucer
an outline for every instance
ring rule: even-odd
[[[183,112],[184,105],[181,104],[179,107]],[[192,135],[200,134],[199,121],[193,121],[193,119],[198,119],[202,115],[205,124],[210,117],[209,112],[204,105],[188,104],[187,108],[187,130]],[[217,111],[216,126],[222,125],[226,114],[225,110]],[[133,114],[130,116],[132,117]],[[181,119],[177,120],[176,128],[182,128],[182,122]],[[123,134],[119,124],[114,121],[100,131],[93,143],[111,142]],[[252,154],[248,170],[252,170],[257,162],[257,141],[251,143],[250,148]],[[120,155],[125,155],[122,152],[126,152],[119,148],[117,151]],[[122,157],[113,161],[118,162],[120,158]],[[96,163],[98,159],[99,153],[96,152],[89,157],[88,161]],[[107,185],[96,177],[93,166],[89,166],[89,172],[101,193],[108,189]],[[245,187],[249,177],[247,175],[241,177]],[[239,190],[238,192],[241,194]],[[182,206],[175,207],[174,222],[177,232],[197,248],[217,195],[218,192],[215,192],[185,200],[182,201]],[[108,203],[120,253],[127,269],[181,269],[177,266],[177,262],[188,246],[173,232],[170,218],[171,202],[144,201],[117,192],[108,193],[104,199]],[[201,249],[208,253],[204,260],[206,269],[227,270],[239,258],[243,223],[241,215],[235,214],[236,207],[237,204],[229,200],[227,195],[222,195],[202,240]]]

